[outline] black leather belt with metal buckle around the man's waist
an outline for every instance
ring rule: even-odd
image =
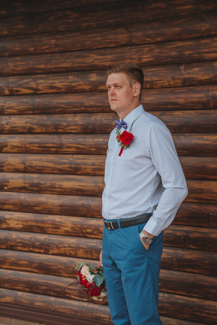
[[[140,214],[137,217],[132,217],[132,218],[126,218],[126,219],[121,219],[120,220],[120,227],[121,228],[126,228],[130,226],[136,226],[139,225],[143,222],[147,222],[149,218],[151,217],[151,213],[144,213]],[[118,222],[115,221],[104,221],[104,225],[107,229],[117,229],[119,228]]]

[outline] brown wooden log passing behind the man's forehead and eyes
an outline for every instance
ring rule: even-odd
[[[216,19],[217,21],[217,19]],[[217,61],[143,67],[143,88],[215,85]],[[0,77],[0,95],[74,93],[105,90],[105,71]]]

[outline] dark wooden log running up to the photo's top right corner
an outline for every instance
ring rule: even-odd
[[[202,7],[201,7],[202,5]],[[61,8],[62,9],[62,8]],[[89,10],[83,8],[73,8],[73,10],[61,10],[33,13],[24,16],[6,17],[1,19],[1,35],[22,35],[42,32],[53,32],[76,28],[90,28],[95,26],[107,26],[118,23],[129,23],[133,21],[146,21],[175,17],[180,15],[195,14],[206,11],[216,11],[215,4],[204,4],[201,1],[191,1],[186,6],[185,2],[170,1],[166,6],[159,6],[151,1],[148,5],[141,1],[131,1],[108,3],[93,6]],[[124,14],[123,14],[124,12]],[[97,19],[96,19],[97,17]],[[38,24],[33,22],[37,21]],[[169,30],[169,33],[171,31]]]

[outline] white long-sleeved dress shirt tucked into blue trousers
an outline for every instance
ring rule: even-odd
[[[172,222],[187,185],[170,131],[142,105],[125,118],[134,141],[121,149],[111,132],[105,162],[102,216],[107,220],[153,213],[144,229],[157,236]],[[121,128],[121,133],[124,131]]]

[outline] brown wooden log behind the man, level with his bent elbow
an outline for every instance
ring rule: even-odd
[[[185,201],[216,203],[217,181],[188,180],[187,185]],[[0,173],[0,191],[101,197],[103,189],[103,176]]]

